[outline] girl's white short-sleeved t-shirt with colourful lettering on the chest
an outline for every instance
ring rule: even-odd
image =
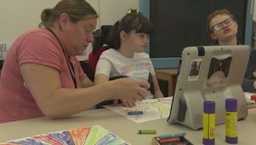
[[[134,53],[132,58],[127,58],[111,48],[100,55],[95,76],[97,74],[106,74],[109,78],[128,76],[129,78],[148,81],[149,72],[152,76],[156,74],[147,53]]]

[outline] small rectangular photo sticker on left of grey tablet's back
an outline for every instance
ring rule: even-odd
[[[189,69],[188,81],[197,81],[200,73],[202,59],[192,59]]]

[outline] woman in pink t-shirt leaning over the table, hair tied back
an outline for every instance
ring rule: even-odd
[[[122,78],[93,86],[76,60],[89,43],[98,15],[84,0],[62,0],[42,11],[40,28],[10,47],[0,83],[0,123],[84,111],[107,99],[142,100],[147,81]]]

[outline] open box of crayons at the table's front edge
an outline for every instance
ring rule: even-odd
[[[183,134],[183,135],[180,135]],[[161,135],[160,137],[152,138],[152,145],[193,145],[184,137],[186,133],[180,133],[179,135]]]

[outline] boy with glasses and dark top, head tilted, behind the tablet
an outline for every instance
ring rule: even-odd
[[[207,31],[213,45],[241,45],[237,40],[238,25],[228,10],[216,10],[207,18]],[[242,84],[244,92],[256,92],[256,50],[252,48]]]

